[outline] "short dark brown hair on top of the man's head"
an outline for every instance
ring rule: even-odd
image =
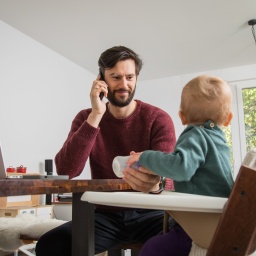
[[[104,74],[105,69],[113,68],[118,61],[132,59],[135,62],[136,76],[142,68],[142,60],[139,55],[125,46],[114,46],[104,51],[99,58],[99,70]]]

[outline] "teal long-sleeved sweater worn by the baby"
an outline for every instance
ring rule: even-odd
[[[174,180],[176,192],[228,197],[234,181],[224,132],[212,121],[189,125],[174,152],[144,151],[140,165]]]

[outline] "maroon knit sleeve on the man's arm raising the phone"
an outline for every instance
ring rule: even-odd
[[[86,121],[87,113],[81,111],[72,122],[71,130],[64,145],[55,157],[57,173],[79,176],[84,169],[99,128],[92,127]]]

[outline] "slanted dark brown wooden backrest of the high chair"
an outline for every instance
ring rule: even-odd
[[[256,249],[256,149],[247,153],[207,256],[244,256]]]

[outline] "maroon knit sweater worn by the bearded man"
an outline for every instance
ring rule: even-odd
[[[116,179],[112,170],[115,156],[129,155],[132,150],[174,149],[172,119],[157,107],[137,100],[135,111],[124,119],[116,119],[107,108],[98,128],[87,123],[90,112],[82,110],[73,120],[68,138],[55,157],[58,174],[70,178],[80,175],[89,158],[93,179]]]

